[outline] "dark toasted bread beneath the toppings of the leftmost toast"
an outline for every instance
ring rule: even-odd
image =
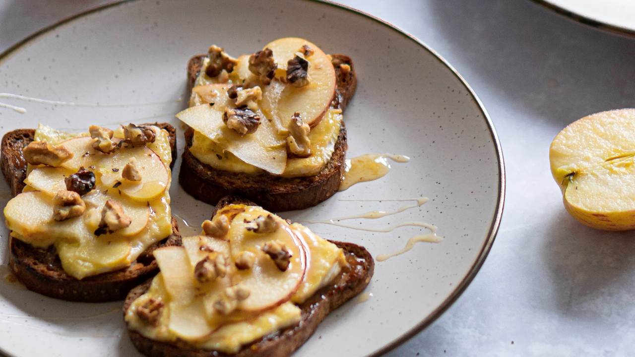
[[[155,123],[170,134],[172,165],[177,156],[177,136],[173,126],[167,123]],[[11,186],[11,194],[17,196],[25,187],[27,162],[22,149],[33,141],[34,129],[18,129],[6,133],[0,145],[0,166],[4,178]],[[119,271],[98,274],[77,280],[62,269],[62,262],[55,247],[35,248],[18,239],[9,238],[9,266],[16,278],[29,290],[56,299],[105,302],[122,300],[131,288],[156,274],[158,266],[152,250],[165,245],[179,245],[178,224],[172,219],[172,234],[150,246],[130,266]]]

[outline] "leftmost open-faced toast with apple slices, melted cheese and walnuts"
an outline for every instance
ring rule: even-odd
[[[27,288],[65,300],[119,300],[157,272],[152,250],[180,241],[170,212],[175,130],[168,124],[40,125],[10,131],[1,166],[10,267]]]

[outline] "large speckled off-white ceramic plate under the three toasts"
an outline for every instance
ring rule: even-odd
[[[324,220],[371,210],[418,208],[382,219],[342,222],[395,227],[438,226],[441,243],[377,262],[364,295],[324,320],[296,353],[332,357],[379,354],[443,313],[474,278],[496,234],[504,198],[504,168],[491,121],[465,81],[423,43],[389,24],[335,4],[314,1],[156,1],[107,6],[71,18],[11,48],[0,58],[1,90],[86,105],[54,105],[0,98],[24,107],[0,108],[0,132],[42,122],[86,130],[89,123],[170,121],[184,107],[185,64],[211,43],[250,53],[272,39],[300,36],[327,53],[350,55],[359,86],[345,112],[348,156],[390,152],[410,156],[380,180],[351,187],[294,220]],[[90,105],[90,104],[100,105]],[[126,104],[126,105],[124,105]],[[182,151],[182,131],[179,131]],[[173,172],[173,213],[192,226],[210,206],[185,194]],[[8,186],[0,184],[4,206]],[[381,200],[381,201],[371,201]],[[196,231],[181,221],[182,231]],[[373,256],[403,248],[420,227],[368,232],[310,224],[324,238],[364,245]],[[3,275],[6,227],[0,227]],[[0,282],[0,349],[12,356],[135,356],[121,303],[77,304],[48,299]]]

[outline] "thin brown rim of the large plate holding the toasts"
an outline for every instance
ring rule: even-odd
[[[31,41],[37,39],[37,37],[40,37],[40,36],[46,34],[47,32],[50,32],[51,30],[55,30],[60,25],[67,24],[69,22],[72,22],[73,20],[76,20],[77,18],[81,18],[81,17],[85,17],[87,15],[90,15],[91,13],[95,13],[95,12],[98,12],[98,11],[101,11],[101,10],[105,10],[107,8],[112,8],[112,7],[115,7],[115,6],[119,6],[119,5],[124,4],[124,3],[132,3],[133,1],[137,1],[137,0],[117,0],[117,1],[114,1],[112,3],[103,4],[103,5],[100,5],[100,6],[95,6],[93,8],[89,8],[88,10],[84,10],[84,11],[81,11],[81,12],[76,13],[74,15],[70,15],[69,17],[62,18],[62,20],[59,20],[58,22],[55,22],[55,23],[53,23],[51,25],[48,25],[48,26],[44,27],[43,29],[37,30],[36,32],[30,34],[27,37],[24,37],[22,40],[18,41],[17,43],[11,45],[6,50],[2,51],[0,53],[0,64],[2,62],[4,62],[4,60],[6,58],[8,58],[12,53],[18,51],[20,48],[22,48],[22,46],[25,46],[25,44],[30,43]],[[311,3],[319,3],[319,4],[326,5],[326,6],[332,6],[332,7],[335,7],[335,8],[339,8],[341,10],[349,11],[350,13],[352,13],[354,15],[358,15],[358,16],[367,18],[368,20],[371,20],[373,22],[377,22],[380,25],[384,25],[385,27],[388,27],[389,29],[394,30],[395,32],[398,32],[402,36],[405,36],[406,38],[408,38],[411,41],[413,41],[415,44],[418,44],[418,46],[421,46],[422,48],[424,48],[424,50],[428,51],[439,62],[441,62],[441,64],[445,65],[445,67],[448,70],[450,70],[450,72],[455,77],[457,77],[458,81],[460,81],[460,83],[465,87],[465,90],[467,90],[468,93],[470,93],[470,95],[472,97],[472,100],[474,100],[474,103],[478,106],[478,109],[481,111],[481,116],[483,116],[483,119],[485,120],[485,124],[488,126],[488,130],[489,130],[490,136],[491,136],[491,142],[494,145],[495,154],[496,154],[497,159],[498,159],[498,197],[497,197],[497,203],[496,203],[496,207],[494,209],[493,217],[491,219],[490,229],[488,230],[488,233],[486,234],[485,243],[483,244],[483,246],[481,246],[481,250],[479,251],[478,256],[476,257],[476,260],[474,260],[474,263],[470,267],[469,271],[467,272],[467,274],[465,274],[465,276],[462,278],[462,280],[455,286],[454,290],[452,290],[452,292],[450,292],[450,294],[448,294],[446,299],[444,299],[443,302],[441,302],[441,304],[439,304],[439,306],[437,306],[436,309],[434,309],[432,311],[432,313],[430,313],[428,316],[425,316],[425,318],[423,320],[421,320],[415,326],[410,328],[410,330],[408,330],[405,333],[403,333],[401,336],[397,337],[396,339],[392,340],[391,342],[388,342],[387,344],[385,344],[383,347],[380,347],[376,351],[373,351],[372,353],[368,354],[367,357],[380,356],[382,354],[385,354],[385,353],[391,351],[392,349],[395,349],[396,347],[400,346],[401,344],[403,344],[407,340],[410,340],[414,335],[417,335],[417,333],[421,332],[422,330],[424,330],[424,328],[426,328],[429,325],[431,325],[432,322],[436,321],[439,318],[439,316],[441,316],[443,313],[445,313],[445,311],[450,306],[452,306],[452,304],[454,304],[454,302],[458,299],[458,297],[460,297],[460,295],[462,295],[465,292],[465,289],[467,288],[467,286],[469,286],[469,284],[472,282],[472,280],[474,280],[474,278],[476,277],[476,274],[478,274],[479,270],[481,269],[481,266],[483,266],[483,263],[485,263],[485,259],[487,258],[488,254],[490,253],[491,246],[494,243],[494,240],[495,240],[496,235],[498,233],[498,228],[500,227],[500,221],[502,219],[502,214],[503,214],[503,210],[504,210],[504,206],[505,206],[505,183],[506,183],[506,181],[505,181],[505,160],[504,160],[504,156],[503,156],[502,147],[500,145],[500,140],[498,139],[498,133],[497,133],[495,127],[494,127],[493,122],[491,121],[490,114],[488,114],[487,110],[485,109],[485,106],[483,105],[483,102],[481,102],[481,100],[478,97],[478,95],[476,95],[474,90],[472,90],[472,87],[467,83],[467,81],[465,81],[464,77],[461,76],[458,73],[458,71],[443,56],[441,56],[436,50],[433,50],[430,46],[425,44],[423,41],[421,41],[417,37],[415,37],[412,34],[410,34],[410,32],[406,32],[405,30],[397,27],[396,25],[393,25],[390,22],[382,20],[382,18],[376,17],[375,15],[371,15],[370,13],[366,13],[365,11],[353,8],[352,6],[348,6],[348,5],[345,5],[345,4],[337,3],[337,2],[331,1],[331,0],[302,0],[302,1],[308,1],[308,2],[311,2]],[[533,1],[535,1],[536,3],[544,3],[545,2],[544,0],[533,0]],[[633,35],[635,36],[635,32],[633,32]],[[9,354],[6,353],[3,350],[3,348],[0,346],[0,356],[1,355],[9,356]]]

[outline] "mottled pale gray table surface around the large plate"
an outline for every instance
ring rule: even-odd
[[[0,51],[109,1],[0,0]],[[340,2],[429,44],[490,112],[507,168],[491,253],[458,301],[389,356],[635,354],[635,240],[578,224],[549,173],[549,144],[593,112],[635,107],[635,39],[529,0]]]

